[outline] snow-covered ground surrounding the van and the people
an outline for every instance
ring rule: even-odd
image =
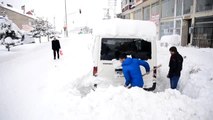
[[[0,46],[0,120],[211,120],[213,49],[178,47],[184,56],[179,90],[166,78],[169,48],[158,46],[157,89],[98,87],[92,83],[91,36],[61,39],[63,56],[53,60],[51,43]]]

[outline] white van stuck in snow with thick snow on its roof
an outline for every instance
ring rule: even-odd
[[[147,60],[150,68],[157,65],[156,26],[150,21],[111,19],[103,20],[93,29],[93,75],[102,78],[104,84],[124,85],[121,53],[129,57]],[[145,69],[141,67],[142,73]],[[152,86],[156,70],[144,76],[144,87]],[[104,81],[105,80],[105,81]]]

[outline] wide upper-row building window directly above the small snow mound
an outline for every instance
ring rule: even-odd
[[[162,18],[174,16],[175,0],[162,0]]]

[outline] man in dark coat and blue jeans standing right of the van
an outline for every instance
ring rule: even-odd
[[[171,53],[171,57],[167,77],[170,78],[171,88],[176,89],[181,75],[183,57],[178,53],[177,48],[174,46],[171,47],[169,51]]]

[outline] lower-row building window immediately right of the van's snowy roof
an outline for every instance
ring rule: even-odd
[[[173,34],[173,28],[174,28],[174,22],[162,22],[160,24],[160,37],[164,35],[172,35]]]

